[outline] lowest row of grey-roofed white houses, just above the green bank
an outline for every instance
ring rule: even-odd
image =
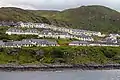
[[[8,41],[3,42],[0,40],[0,47],[49,47],[49,46],[60,46],[56,41],[48,41],[44,39],[24,39],[22,41]],[[113,46],[119,47],[120,44],[117,43],[107,43],[107,42],[87,42],[87,41],[72,41],[68,46]]]

